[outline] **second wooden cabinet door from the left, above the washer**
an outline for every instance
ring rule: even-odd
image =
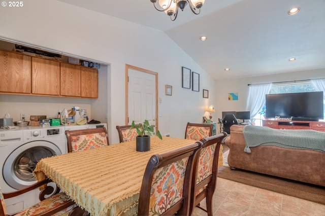
[[[31,58],[31,93],[60,94],[60,63],[43,58]]]

